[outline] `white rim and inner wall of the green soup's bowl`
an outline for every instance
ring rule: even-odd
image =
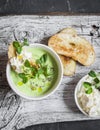
[[[40,44],[40,43],[33,43],[33,44],[30,44],[29,46],[33,46],[33,47],[42,47],[44,50],[46,49],[46,51],[51,55],[56,57],[54,58],[54,60],[56,61],[57,63],[57,66],[58,68],[60,68],[60,71],[58,72],[58,78],[59,78],[59,81],[56,79],[56,82],[55,82],[55,85],[54,85],[54,88],[51,89],[51,91],[49,93],[46,93],[45,95],[43,94],[42,96],[37,96],[37,97],[32,97],[32,96],[27,96],[25,95],[24,93],[21,93],[15,86],[13,86],[14,84],[12,84],[12,81],[10,81],[10,78],[9,78],[9,69],[10,69],[10,64],[9,62],[7,62],[7,65],[6,65],[6,78],[7,78],[7,81],[8,81],[8,84],[10,86],[10,88],[19,96],[25,98],[25,99],[29,99],[29,100],[42,100],[44,98],[47,98],[48,96],[50,96],[51,94],[53,94],[57,89],[58,87],[60,86],[61,84],[61,81],[62,81],[62,78],[63,78],[63,66],[62,66],[62,62],[59,58],[59,56],[57,55],[57,53],[50,47],[46,46],[46,45],[43,45],[43,44]],[[51,53],[50,53],[51,52]],[[59,64],[58,64],[59,63]],[[48,92],[48,91],[47,91]]]

